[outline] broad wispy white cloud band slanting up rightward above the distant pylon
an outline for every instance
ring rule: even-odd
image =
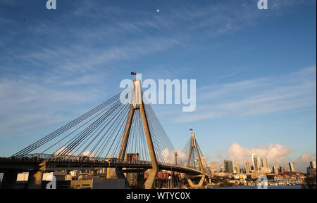
[[[176,118],[175,122],[246,117],[316,107],[316,67],[280,77],[205,86],[197,92],[197,110]]]

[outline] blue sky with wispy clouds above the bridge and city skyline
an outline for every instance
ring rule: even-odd
[[[0,0],[0,156],[121,91],[196,79],[197,107],[152,105],[176,149],[208,162],[316,160],[316,1]],[[158,11],[159,9],[159,11]]]

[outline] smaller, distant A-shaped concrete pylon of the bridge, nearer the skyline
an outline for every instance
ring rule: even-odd
[[[205,173],[205,170],[204,170],[204,166],[203,166],[203,164],[201,162],[201,157],[199,155],[199,150],[198,150],[198,147],[197,147],[195,133],[191,133],[190,134],[190,146],[189,146],[189,155],[188,155],[188,160],[187,160],[187,167],[190,164],[190,158],[192,157],[192,150],[196,150],[198,161],[199,161],[199,167],[201,169],[202,176],[201,176],[201,179],[200,179],[200,181],[199,181],[199,183],[197,185],[192,183],[192,180],[190,180],[190,178],[188,178],[188,177],[187,177],[187,182],[189,183],[191,188],[200,188],[204,184],[206,173]]]

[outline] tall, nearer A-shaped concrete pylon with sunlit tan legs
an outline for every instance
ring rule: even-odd
[[[151,131],[149,130],[149,123],[147,122],[147,113],[144,110],[144,103],[142,100],[142,86],[141,81],[139,79],[135,79],[133,81],[133,96],[131,98],[130,110],[128,113],[127,123],[125,124],[125,131],[123,134],[123,139],[121,142],[119,159],[125,159],[125,151],[127,150],[128,140],[130,136],[130,129],[132,126],[132,119],[134,116],[135,110],[139,110],[142,118],[142,124],[144,128],[145,137],[147,138],[147,148],[149,150],[149,155],[151,157],[151,173],[149,174],[147,181],[145,181],[144,186],[145,189],[151,189],[154,185],[154,181],[156,178],[156,174],[159,171],[159,164],[156,159],[156,153],[154,150],[153,141],[151,138]]]

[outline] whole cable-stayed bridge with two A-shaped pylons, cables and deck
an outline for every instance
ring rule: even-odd
[[[141,81],[94,107],[77,119],[44,136],[11,157],[0,157],[2,188],[12,188],[18,172],[29,171],[28,188],[40,188],[44,171],[115,168],[124,173],[149,170],[144,188],[154,185],[159,170],[185,173],[189,185],[201,187],[211,173],[194,133],[187,163],[142,98]],[[199,166],[197,166],[197,159]],[[200,178],[197,185],[192,178]]]

